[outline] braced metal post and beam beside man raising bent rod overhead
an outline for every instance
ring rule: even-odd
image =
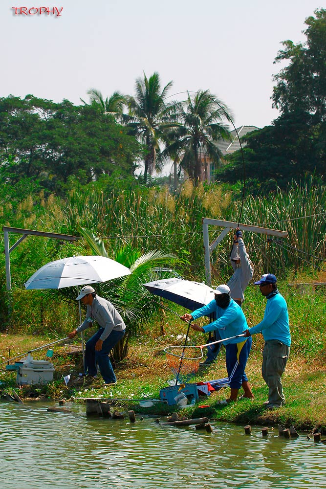
[[[212,244],[209,244],[209,236],[208,236],[208,226],[219,226],[224,227],[223,231],[219,234],[217,239],[213,241]],[[266,236],[278,236],[280,238],[287,238],[288,234],[286,231],[280,231],[278,229],[269,229],[267,227],[260,226],[251,226],[248,224],[239,224],[237,222],[229,222],[229,221],[219,221],[217,219],[208,219],[203,218],[202,220],[203,226],[203,238],[204,238],[204,250],[205,250],[205,275],[206,275],[206,284],[212,286],[212,275],[211,275],[211,253],[217,247],[224,236],[228,234],[231,229],[239,229],[245,231],[252,231],[258,234],[265,234]]]

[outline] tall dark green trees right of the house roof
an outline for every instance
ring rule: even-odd
[[[244,138],[246,175],[263,192],[286,188],[293,178],[326,177],[326,10],[316,10],[305,23],[306,42],[284,41],[275,59],[288,61],[274,77],[273,106],[280,109],[280,117]],[[239,152],[228,161],[218,178],[242,178]]]

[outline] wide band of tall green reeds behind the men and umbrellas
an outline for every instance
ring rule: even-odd
[[[184,182],[176,194],[166,188],[140,185],[124,188],[121,182],[99,186],[95,182],[73,190],[66,201],[55,196],[45,199],[43,193],[27,197],[18,204],[15,213],[6,202],[0,202],[5,225],[77,236],[84,227],[104,240],[108,256],[114,256],[122,244],[137,247],[142,252],[152,249],[173,252],[178,257],[174,267],[182,276],[193,280],[205,279],[202,218],[238,222],[240,206],[241,201],[229,187],[217,184],[195,187],[190,180]],[[315,186],[311,181],[301,187],[293,183],[287,192],[280,191],[265,198],[248,196],[244,200],[242,223],[288,233],[284,240],[269,241],[264,235],[244,232],[244,241],[255,265],[255,277],[268,271],[290,282],[303,276],[305,281],[326,281],[326,272],[318,268],[326,270],[325,209],[326,187]],[[220,231],[221,228],[210,226],[210,242]],[[12,236],[10,245],[19,238]],[[232,273],[229,263],[232,243],[233,232],[230,232],[212,253],[213,285],[227,281]],[[10,256],[13,288],[23,288],[32,273],[49,261],[91,253],[83,239],[67,243],[29,236]],[[4,320],[7,292],[3,254],[0,263],[0,315]],[[307,310],[308,305],[304,309]],[[313,312],[312,309],[309,321],[318,320]]]

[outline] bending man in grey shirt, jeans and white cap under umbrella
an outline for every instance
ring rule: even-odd
[[[86,342],[85,374],[95,377],[98,365],[104,382],[106,384],[115,383],[116,377],[109,353],[125,334],[126,325],[113,305],[103,297],[96,295],[90,285],[83,287],[76,300],[81,300],[84,305],[87,305],[86,319],[78,328],[68,334],[68,338],[74,338],[77,333],[86,330],[93,321],[96,321],[100,329]]]

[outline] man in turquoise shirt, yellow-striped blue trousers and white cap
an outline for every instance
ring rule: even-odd
[[[254,395],[244,371],[252,340],[251,338],[243,340],[243,336],[240,338],[234,337],[233,339],[226,339],[230,336],[242,335],[242,331],[248,328],[246,318],[240,306],[231,299],[230,289],[227,285],[219,285],[214,292],[215,299],[209,304],[200,309],[196,309],[196,311],[191,314],[184,314],[181,316],[181,319],[184,321],[193,321],[198,317],[213,312],[216,313],[217,319],[212,323],[209,323],[204,327],[200,327],[198,324],[192,324],[191,327],[193,330],[201,331],[202,333],[217,330],[222,340],[225,339],[223,344],[225,345],[226,370],[231,388],[230,398],[227,399],[226,402],[237,400],[241,386],[244,390],[243,397],[253,399]],[[226,402],[223,401],[223,403]]]

